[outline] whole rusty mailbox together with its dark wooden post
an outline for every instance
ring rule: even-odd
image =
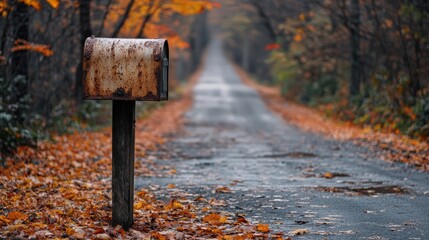
[[[133,223],[135,101],[168,99],[168,43],[164,39],[90,37],[83,53],[83,92],[113,100],[112,224]]]

